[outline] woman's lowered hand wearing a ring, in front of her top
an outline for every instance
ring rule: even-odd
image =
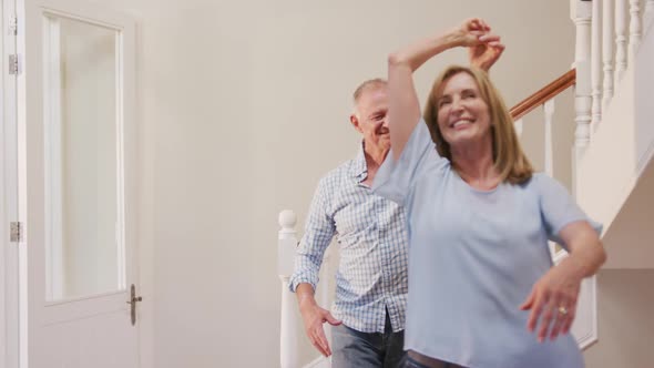
[[[520,306],[522,310],[531,310],[527,328],[538,328],[539,341],[550,337],[554,340],[559,334],[568,334],[576,311],[576,300],[582,277],[570,264],[562,262],[552,267],[532,287],[530,295]]]

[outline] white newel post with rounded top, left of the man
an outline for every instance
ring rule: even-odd
[[[295,296],[288,288],[297,246],[296,222],[297,217],[293,211],[285,209],[279,213],[279,226],[282,226],[282,229],[277,243],[277,272],[282,280],[282,325],[279,331],[279,362],[282,368],[299,367],[296,301]]]

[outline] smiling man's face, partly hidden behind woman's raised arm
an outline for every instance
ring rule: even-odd
[[[361,93],[350,122],[364,135],[366,150],[388,152],[388,92],[385,85],[371,86]]]

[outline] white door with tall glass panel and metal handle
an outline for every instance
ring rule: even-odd
[[[18,9],[27,362],[135,368],[134,23],[83,1]]]

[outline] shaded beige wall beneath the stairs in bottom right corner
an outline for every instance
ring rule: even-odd
[[[597,275],[600,341],[584,352],[586,367],[652,367],[654,270],[612,269]]]

